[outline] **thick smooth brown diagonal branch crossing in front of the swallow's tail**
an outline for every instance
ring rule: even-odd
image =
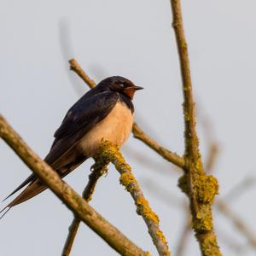
[[[0,137],[61,201],[121,255],[148,255],[96,212],[61,177],[35,154],[0,115]]]

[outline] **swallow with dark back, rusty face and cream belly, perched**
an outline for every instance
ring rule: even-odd
[[[121,147],[132,129],[134,106],[131,101],[135,92],[142,89],[120,76],[103,79],[69,108],[55,131],[54,142],[44,161],[62,178],[88,158],[94,158],[102,138]],[[3,208],[1,212],[6,210],[3,215],[47,189],[32,173],[4,200],[24,187],[26,189]]]

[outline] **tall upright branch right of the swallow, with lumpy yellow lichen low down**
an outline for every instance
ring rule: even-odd
[[[213,230],[212,203],[218,194],[218,181],[204,172],[199,141],[196,133],[195,102],[189,69],[189,54],[183,31],[180,0],[171,0],[172,26],[174,28],[183,80],[183,116],[185,139],[184,175],[179,179],[179,186],[188,195],[192,213],[192,225],[199,241],[202,255],[221,255],[217,237]]]

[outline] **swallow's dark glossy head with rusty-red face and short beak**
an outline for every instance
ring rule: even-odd
[[[131,100],[137,90],[143,89],[143,87],[136,86],[130,80],[118,76],[104,79],[98,86],[101,86],[104,90],[113,90],[125,94]]]

